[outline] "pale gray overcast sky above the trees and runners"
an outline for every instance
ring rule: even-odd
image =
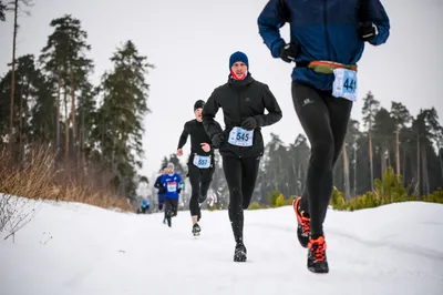
[[[30,17],[20,18],[18,54],[40,54],[49,23],[64,13],[82,22],[92,45],[93,82],[105,70],[115,48],[131,39],[156,65],[146,77],[151,84],[143,140],[146,152],[142,173],[151,176],[164,155],[176,151],[185,121],[193,119],[196,100],[207,100],[227,81],[228,58],[241,50],[249,57],[253,75],[267,83],[284,111],[281,121],[264,129],[265,140],[275,132],[293,142],[301,126],[290,96],[291,67],[272,59],[258,34],[257,17],[267,0],[33,0]],[[384,0],[391,37],[381,47],[367,45],[359,63],[359,98],[371,90],[381,105],[404,103],[413,115],[435,106],[443,116],[443,1]],[[0,23],[0,74],[11,59],[12,14]],[[288,41],[288,26],[282,35]],[[437,71],[440,69],[440,71]],[[361,99],[352,116],[361,119]],[[217,115],[223,124],[222,111]],[[440,120],[443,122],[443,120]],[[188,155],[189,140],[183,162]]]

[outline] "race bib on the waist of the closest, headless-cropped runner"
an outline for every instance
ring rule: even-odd
[[[332,84],[332,95],[350,101],[357,100],[357,72],[348,69],[334,69],[336,79]]]

